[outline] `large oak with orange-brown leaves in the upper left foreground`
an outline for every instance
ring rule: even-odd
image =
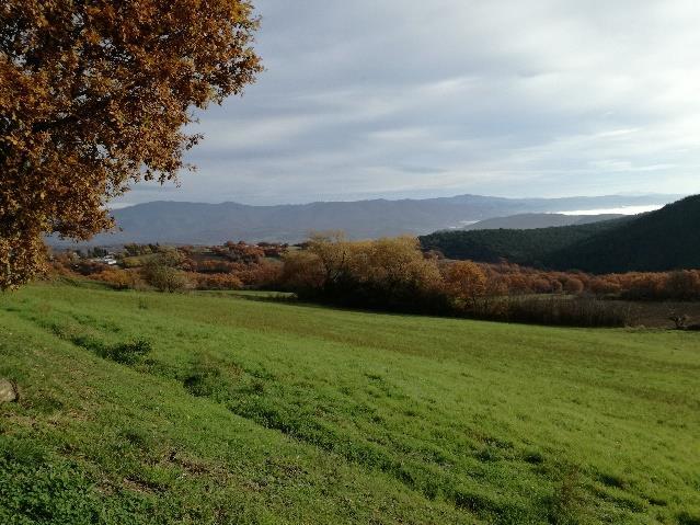
[[[44,236],[88,239],[130,184],[190,168],[184,126],[254,81],[257,26],[245,0],[0,2],[0,288]]]

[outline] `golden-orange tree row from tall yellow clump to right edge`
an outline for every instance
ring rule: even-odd
[[[543,294],[635,300],[700,299],[700,271],[599,276],[543,272],[507,262],[445,260],[438,252],[421,251],[417,240],[411,237],[348,241],[337,233],[315,236],[306,250],[286,255],[282,282],[303,296],[351,301],[394,300],[401,296],[415,300],[436,293],[464,305]]]

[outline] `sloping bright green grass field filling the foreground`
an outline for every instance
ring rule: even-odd
[[[700,334],[255,299],[0,296],[0,523],[700,524]]]

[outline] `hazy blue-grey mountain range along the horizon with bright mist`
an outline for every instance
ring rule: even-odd
[[[121,230],[96,236],[90,244],[217,244],[227,240],[298,242],[306,239],[310,231],[321,230],[344,230],[353,239],[402,233],[424,235],[516,214],[661,205],[676,198],[678,196],[675,195],[567,198],[459,195],[426,199],[319,202],[277,206],[153,202],[115,209],[113,215]],[[61,242],[49,239],[49,243]]]

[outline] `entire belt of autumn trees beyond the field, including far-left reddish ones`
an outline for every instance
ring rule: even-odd
[[[121,263],[122,269],[107,269],[88,260],[62,260],[64,267],[115,287],[279,289],[309,299],[389,309],[455,304],[475,309],[494,298],[531,295],[700,299],[700,271],[594,276],[505,262],[448,261],[437,252],[421,251],[411,237],[349,241],[342,233],[317,235],[294,249],[244,242],[207,249],[127,246]]]

